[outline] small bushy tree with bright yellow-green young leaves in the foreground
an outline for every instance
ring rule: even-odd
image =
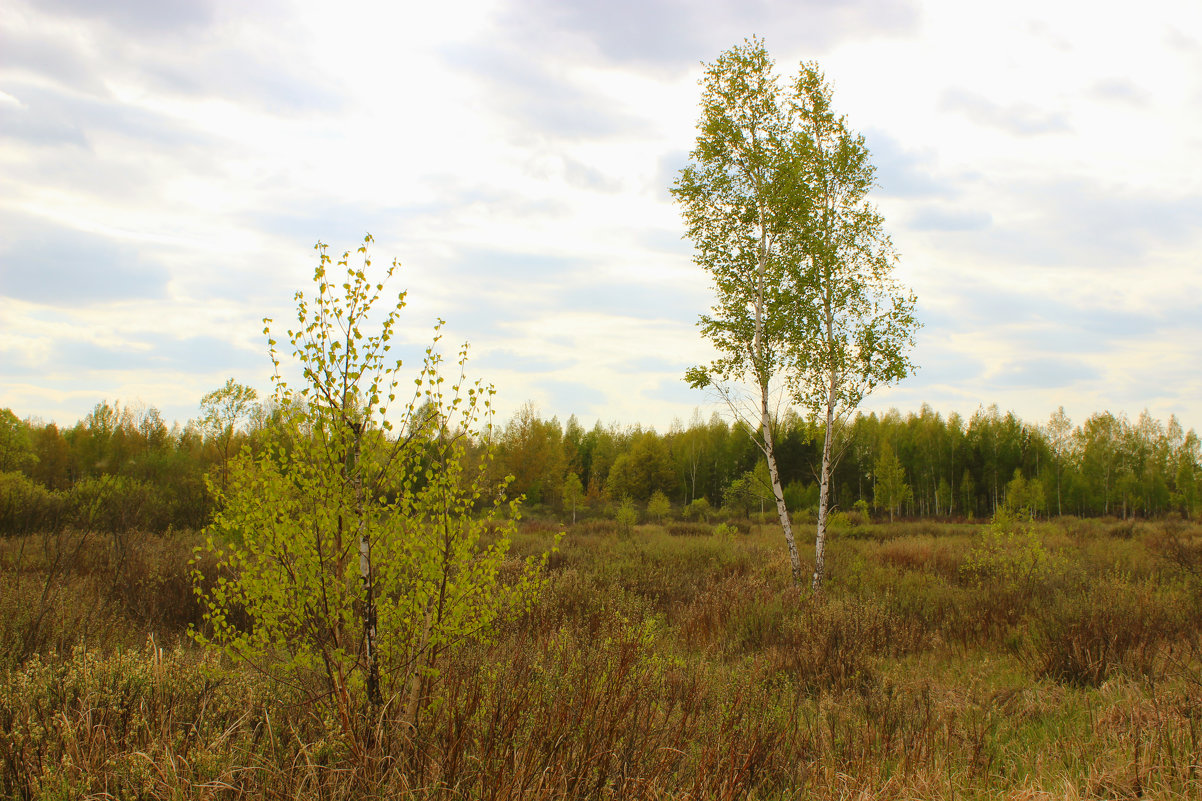
[[[368,279],[370,242],[359,268],[344,254],[339,279],[319,243],[316,291],[297,292],[288,331],[300,388],[282,378],[269,339],[278,420],[262,451],[243,450],[228,487],[215,488],[216,580],[194,574],[207,623],[194,636],[323,706],[352,742],[370,741],[385,708],[415,728],[440,657],[526,604],[538,571],[528,562],[516,581],[500,580],[517,508],[487,482],[493,388],[463,376],[466,346],[450,386],[427,348],[413,394],[392,413],[401,362],[387,352],[405,295],[379,333],[363,331],[383,290]],[[482,458],[466,458],[472,441]]]

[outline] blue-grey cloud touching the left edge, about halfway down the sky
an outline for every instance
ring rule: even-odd
[[[96,233],[0,218],[0,293],[46,305],[163,297],[167,269],[142,248]]]

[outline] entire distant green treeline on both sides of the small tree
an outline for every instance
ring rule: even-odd
[[[228,399],[231,385],[225,387]],[[208,396],[207,396],[208,397]],[[61,526],[99,530],[200,528],[212,514],[206,476],[220,485],[243,445],[255,447],[272,409],[240,396],[224,410],[167,426],[153,407],[100,403],[70,428],[0,409],[0,532]],[[817,504],[821,431],[776,421],[785,498]],[[996,407],[966,420],[918,413],[858,415],[839,432],[837,509],[911,517],[983,517],[1000,506],[1036,515],[1159,517],[1202,514],[1197,434],[1147,413],[1100,413],[1073,426],[1063,410],[1031,425]],[[739,425],[695,413],[665,433],[584,428],[528,404],[494,429],[495,480],[512,476],[534,514],[609,515],[621,502],[678,515],[742,516],[773,508],[763,459]]]

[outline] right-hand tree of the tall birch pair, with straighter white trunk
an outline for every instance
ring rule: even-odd
[[[821,421],[819,521],[813,587],[821,589],[839,433],[867,394],[914,372],[916,298],[893,277],[897,254],[885,219],[868,200],[876,170],[864,137],[831,105],[816,64],[803,64],[790,91],[792,164],[807,201],[796,208],[801,253],[790,261],[791,301],[803,312],[785,362],[796,403]]]

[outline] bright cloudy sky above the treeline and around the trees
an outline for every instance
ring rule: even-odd
[[[370,232],[406,370],[441,318],[502,420],[708,417],[668,188],[752,35],[865,136],[918,297],[920,369],[864,410],[1202,427],[1196,0],[6,0],[0,408],[266,394],[262,319]]]

